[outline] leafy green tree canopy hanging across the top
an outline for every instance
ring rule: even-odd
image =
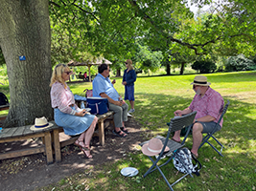
[[[199,7],[210,3],[192,2]],[[212,3],[214,12],[194,18],[180,1],[50,1],[53,64],[105,56],[114,68],[123,69],[125,59],[137,60],[138,40],[182,66],[195,61],[196,54],[254,55],[256,15],[248,5],[244,0]],[[151,65],[151,71],[159,68],[151,58],[138,58],[138,64],[143,63]]]

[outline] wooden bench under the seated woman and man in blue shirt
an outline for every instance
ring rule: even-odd
[[[103,115],[97,115],[98,117],[98,130],[96,130],[93,134],[93,136],[99,137],[101,145],[105,145],[105,119],[109,118],[111,122],[113,123],[113,111],[108,111],[107,113]],[[54,121],[51,121],[54,123],[53,127],[53,139],[54,139],[54,149],[55,149],[55,155],[56,155],[56,161],[61,161],[61,153],[60,148],[69,144],[73,144],[76,139],[79,137],[71,137],[63,142],[59,141],[59,133],[63,132],[62,127],[56,127],[56,123]]]

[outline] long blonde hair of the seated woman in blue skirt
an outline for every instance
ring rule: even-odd
[[[55,67],[53,74],[52,74],[50,87],[52,87],[52,85],[58,81],[58,82],[62,83],[65,88],[67,88],[67,84],[66,84],[65,80],[62,78],[62,73],[65,72],[65,69],[69,69],[69,67],[65,64],[58,64]]]

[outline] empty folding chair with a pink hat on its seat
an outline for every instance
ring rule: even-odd
[[[153,160],[150,156],[148,156],[150,159],[151,159],[151,162],[152,162],[152,165],[151,165],[151,168],[144,174],[144,178],[150,174],[151,172],[153,172],[154,170],[158,170],[162,177],[164,178],[164,180],[166,181],[166,183],[168,184],[169,188],[171,190],[174,190],[173,189],[173,185],[175,185],[176,182],[178,182],[179,180],[182,180],[183,178],[185,178],[187,175],[190,175],[192,178],[193,178],[193,175],[191,173],[189,173],[188,169],[186,168],[186,166],[184,164],[182,164],[184,166],[184,168],[187,170],[187,174],[185,174],[183,177],[181,177],[180,179],[176,180],[172,185],[169,183],[169,181],[166,179],[164,173],[162,172],[162,170],[160,169],[162,166],[166,165],[167,163],[169,163],[174,157],[177,157],[177,155],[175,155],[175,151],[181,147],[184,146],[184,143],[185,143],[185,140],[186,138],[188,137],[188,134],[189,134],[189,131],[187,132],[186,136],[183,138],[182,142],[181,143],[178,143],[176,142],[175,140],[173,139],[170,139],[170,135],[172,132],[175,132],[175,131],[178,131],[178,130],[181,130],[182,128],[185,128],[187,126],[189,126],[189,130],[191,129],[192,125],[193,125],[193,121],[194,121],[194,118],[196,117],[196,114],[197,112],[193,112],[193,113],[190,113],[186,116],[182,116],[182,117],[175,117],[175,118],[172,118],[171,119],[171,122],[170,122],[170,126],[169,126],[169,130],[168,130],[168,133],[167,133],[167,137],[164,138],[164,137],[161,137],[161,136],[157,136],[156,138],[159,138],[162,143],[163,143],[163,148],[159,154],[159,156],[157,157],[157,159]],[[140,143],[141,146],[143,146],[144,144],[148,143],[148,141],[146,142],[142,142]],[[166,146],[168,146],[170,148],[170,151],[168,153],[165,153],[165,148]],[[170,156],[170,154],[173,154],[170,159],[168,159],[166,162],[164,162],[163,164],[161,165],[157,165],[157,162],[159,161],[159,159],[165,157],[165,156]]]

